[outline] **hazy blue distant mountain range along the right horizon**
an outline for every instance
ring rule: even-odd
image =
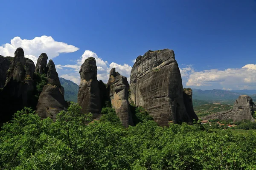
[[[233,104],[235,100],[241,95],[248,95],[253,98],[253,101],[256,102],[256,90],[193,90],[193,100],[202,100],[207,102],[220,102],[223,104]]]

